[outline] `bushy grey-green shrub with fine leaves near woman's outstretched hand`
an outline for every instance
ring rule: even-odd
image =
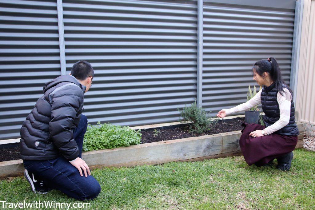
[[[196,101],[192,103],[190,106],[186,106],[180,110],[181,118],[178,120],[179,122],[187,122],[191,121],[189,124],[189,132],[190,133],[203,133],[211,129],[211,126],[214,126],[217,121],[214,119],[215,117],[211,117],[211,111],[207,112],[203,107],[198,107]]]

